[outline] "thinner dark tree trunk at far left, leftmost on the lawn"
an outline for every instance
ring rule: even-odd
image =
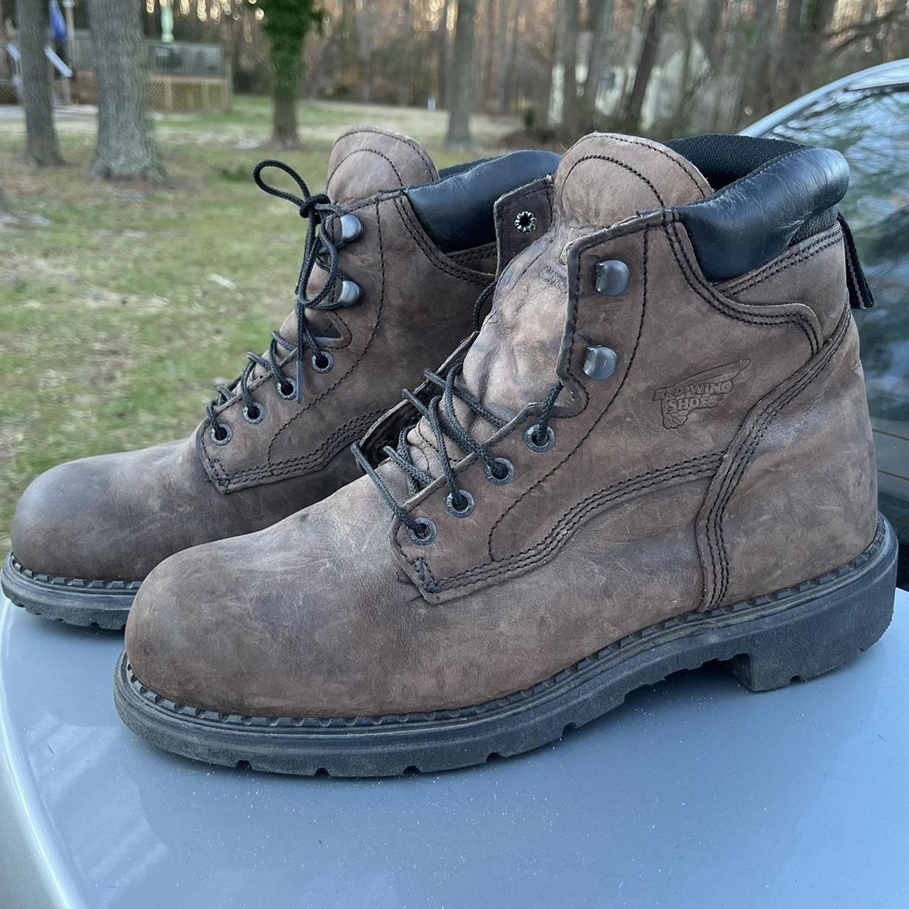
[[[25,105],[25,155],[36,165],[61,165],[54,128],[49,64],[45,57],[50,19],[45,0],[18,0],[22,51],[22,100]]]

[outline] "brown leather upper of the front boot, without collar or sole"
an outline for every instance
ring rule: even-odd
[[[743,438],[754,455],[721,521],[726,594],[770,593],[781,577],[808,578],[834,553],[842,564],[864,549],[874,473],[867,413],[847,332],[822,329],[826,307],[837,320],[843,314],[845,288],[829,299],[806,292],[781,300],[768,278],[766,293],[748,288],[754,294],[744,302],[714,287],[670,209],[633,211],[614,223],[605,196],[635,211],[650,196],[634,193],[636,175],[617,185],[604,158],[624,146],[605,142],[601,157],[596,138],[565,156],[563,167],[587,156],[577,168],[584,167],[583,185],[575,191],[569,182],[564,215],[557,206],[548,235],[505,269],[493,312],[464,359],[465,384],[512,417],[490,448],[513,461],[514,482],[487,484],[473,457],[464,458],[455,470],[474,494],[469,518],[447,514],[440,481],[408,502],[411,514],[435,521],[435,543],[426,546],[410,543],[362,477],[259,533],[168,559],[143,584],[126,628],[127,654],[145,684],[179,703],[265,716],[403,714],[524,689],[702,604],[699,522]],[[664,198],[699,194],[696,179],[660,151],[647,144],[625,151],[638,174],[651,159],[659,159],[657,174],[667,168],[666,185],[654,184]],[[601,222],[586,229],[572,222],[575,205],[579,216],[599,213]],[[595,264],[605,257],[631,269],[619,298],[595,293]],[[794,263],[791,280],[801,282],[820,261]],[[607,382],[583,373],[591,343],[619,355]],[[684,390],[692,375],[714,367],[733,376],[719,393]],[[534,454],[523,430],[555,375],[568,399],[553,421],[554,448]],[[805,376],[812,382],[769,423],[749,422],[761,402]],[[671,419],[667,397],[680,402]],[[819,435],[837,415],[834,435]],[[475,433],[484,428],[474,422]],[[823,448],[811,444],[818,438]],[[430,439],[425,429],[412,434],[427,462],[435,457]],[[828,461],[829,445],[839,448]],[[793,470],[785,484],[784,467]],[[405,501],[403,475],[391,463],[378,472]],[[830,482],[828,472],[842,476]],[[839,529],[816,545],[793,524],[803,515],[784,505],[812,496],[836,521],[852,521],[834,524]],[[806,510],[804,519],[818,514]],[[750,546],[749,528],[762,521]],[[800,547],[788,544],[790,532]],[[528,564],[528,553],[540,557]]]

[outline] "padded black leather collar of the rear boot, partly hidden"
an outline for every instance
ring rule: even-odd
[[[438,183],[405,190],[416,216],[444,253],[472,249],[495,239],[495,200],[541,176],[554,174],[555,152],[513,152],[479,161]]]

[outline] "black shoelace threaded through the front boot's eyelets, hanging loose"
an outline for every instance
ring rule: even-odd
[[[488,424],[494,426],[496,430],[501,429],[508,423],[502,417],[494,414],[482,402],[478,401],[474,395],[457,388],[454,380],[461,375],[462,365],[454,365],[445,378],[436,375],[432,370],[427,369],[424,373],[426,381],[435,385],[442,391],[441,395],[435,395],[428,405],[424,405],[413,393],[405,390],[403,395],[405,400],[413,405],[416,411],[429,424],[430,429],[435,437],[435,447],[439,456],[439,463],[442,465],[442,472],[445,476],[445,483],[448,485],[448,498],[446,501],[448,510],[455,517],[466,517],[474,510],[473,496],[466,490],[461,489],[457,484],[457,477],[454,474],[452,460],[448,455],[445,445],[445,436],[448,436],[455,445],[457,445],[464,454],[475,454],[476,458],[484,464],[486,478],[494,484],[509,483],[514,476],[514,467],[505,458],[495,457],[489,449],[477,442],[470,435],[464,426],[459,422],[457,415],[454,413],[454,398],[458,398],[464,405],[477,416],[482,417]],[[561,382],[556,382],[546,395],[543,406],[540,409],[540,415],[537,422],[524,434],[527,444],[533,451],[547,451],[552,447],[554,442],[554,433],[549,425],[552,419],[553,407],[555,400],[562,391]],[[392,461],[401,468],[407,476],[407,485],[410,494],[417,494],[422,488],[434,482],[432,474],[417,467],[414,459],[411,457],[407,445],[407,434],[413,429],[415,424],[406,426],[398,435],[397,447],[385,445],[382,449]],[[535,446],[535,447],[534,447]],[[369,478],[375,483],[376,488],[385,499],[385,504],[391,509],[392,513],[401,521],[402,524],[410,530],[411,538],[416,543],[431,542],[435,537],[435,530],[432,524],[425,519],[411,517],[405,506],[395,499],[382,478],[375,473],[372,464],[369,463],[360,445],[355,443],[351,445],[351,451],[354,454],[357,464],[365,470]]]

